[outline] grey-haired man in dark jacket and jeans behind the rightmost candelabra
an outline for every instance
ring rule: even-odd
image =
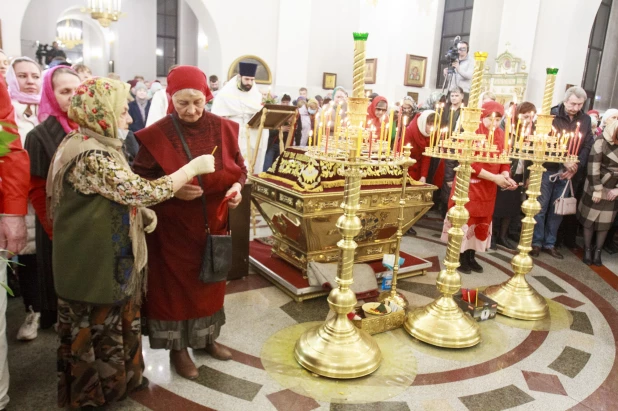
[[[552,108],[551,114],[556,116],[552,126],[560,132],[575,133],[579,125],[582,142],[577,153],[579,163],[544,163],[547,169],[541,180],[541,211],[536,215],[536,225],[532,238],[532,251],[530,255],[536,257],[541,250],[549,253],[552,257],[564,258],[555,249],[558,228],[562,222],[562,216],[554,213],[554,202],[562,195],[567,182],[573,182],[573,189],[577,189],[585,176],[588,154],[594,142],[591,130],[591,120],[583,110],[587,95],[581,87],[571,87],[567,90],[564,101]],[[567,193],[566,196],[569,196]],[[576,224],[574,224],[577,227]],[[574,240],[574,239],[573,239]]]

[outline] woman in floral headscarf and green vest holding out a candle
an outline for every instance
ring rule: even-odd
[[[154,229],[156,216],[143,207],[171,198],[215,168],[212,156],[200,156],[154,181],[134,174],[121,152],[131,123],[128,96],[128,85],[115,80],[79,86],[69,108],[79,131],[58,147],[47,180],[59,297],[60,407],[102,406],[147,385],[140,301],[146,289],[144,232]]]

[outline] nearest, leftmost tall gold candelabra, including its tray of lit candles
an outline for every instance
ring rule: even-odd
[[[354,237],[362,229],[356,215],[360,208],[361,179],[367,167],[398,167],[402,170],[402,184],[406,184],[404,165],[410,160],[410,148],[403,148],[405,136],[400,121],[401,136],[390,149],[390,133],[387,133],[385,119],[378,135],[375,126],[366,124],[369,100],[364,97],[365,41],[367,33],[354,33],[354,92],[348,100],[347,121],[341,120],[341,106],[334,118],[316,124],[315,135],[310,137],[306,154],[323,161],[338,163],[345,176],[343,215],[337,221],[341,240],[337,243],[340,258],[337,266],[337,288],[328,296],[328,304],[334,315],[322,325],[307,330],[297,341],[294,357],[307,370],[331,378],[357,378],[375,371],[382,361],[382,353],[375,340],[367,332],[358,329],[347,315],[356,305],[356,295],[350,289],[354,282]],[[401,117],[400,117],[401,118]],[[334,123],[331,133],[330,123]],[[405,122],[404,122],[405,123]],[[393,116],[388,123],[394,127]],[[405,125],[405,124],[404,124]],[[318,128],[319,126],[319,128]],[[315,137],[315,139],[314,139]]]

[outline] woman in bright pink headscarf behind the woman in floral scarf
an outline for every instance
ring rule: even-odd
[[[20,329],[19,339],[34,339],[39,319],[41,328],[45,329],[54,325],[58,317],[58,298],[54,291],[52,271],[52,225],[47,218],[45,183],[58,145],[68,133],[77,129],[77,124],[67,117],[67,111],[79,84],[77,73],[66,66],[56,66],[45,73],[38,113],[40,123],[27,134],[24,144],[30,155],[29,198],[37,215],[38,275],[33,279],[36,281],[34,287],[22,287],[24,303],[26,307],[32,306],[35,314],[30,314],[33,321],[26,320]],[[22,277],[25,276],[20,275],[20,280],[25,281]]]

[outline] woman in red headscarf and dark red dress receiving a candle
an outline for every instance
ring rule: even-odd
[[[167,94],[172,97],[171,114],[137,133],[142,146],[133,163],[135,172],[158,178],[185,162],[188,154],[214,153],[217,163],[216,171],[199,185],[188,184],[176,198],[153,207],[159,227],[148,236],[150,347],[171,350],[176,372],[193,379],[198,371],[188,347],[205,349],[220,360],[231,358],[215,342],[225,324],[225,281],[204,283],[199,274],[208,235],[204,226],[208,222],[212,230],[226,197],[233,196],[227,200],[230,208],[238,206],[247,169],[238,147],[238,123],[204,110],[211,93],[202,71],[174,68],[167,77]]]

